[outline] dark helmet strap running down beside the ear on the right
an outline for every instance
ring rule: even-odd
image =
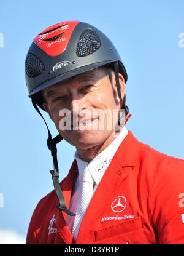
[[[114,71],[115,71],[115,81],[117,83],[117,90],[118,90],[118,97],[120,99],[121,102],[121,109],[125,109],[125,118],[124,115],[122,116],[122,118],[120,118],[120,120],[118,121],[118,124],[126,124],[126,122],[128,121],[128,119],[131,117],[131,114],[129,114],[129,108],[128,106],[126,106],[126,95],[124,96],[124,98],[122,99],[121,97],[121,90],[120,90],[120,81],[119,81],[119,63],[115,62],[114,64]]]

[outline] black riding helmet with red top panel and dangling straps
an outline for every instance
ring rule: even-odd
[[[42,116],[37,106],[44,110],[43,89],[100,66],[110,66],[115,71],[121,108],[125,108],[127,115],[129,110],[125,104],[125,97],[123,100],[121,98],[118,73],[123,75],[125,82],[127,74],[120,55],[109,38],[94,26],[79,21],[61,22],[45,29],[34,38],[25,62],[26,86],[34,108]],[[52,138],[48,126],[47,130],[47,146],[53,156],[54,164],[54,170],[50,172],[59,199],[57,208],[74,216],[75,214],[70,212],[64,203],[58,180],[56,143],[63,138],[60,135]]]

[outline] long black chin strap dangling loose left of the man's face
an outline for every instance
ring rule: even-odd
[[[40,110],[39,110],[38,106],[36,105],[36,103],[34,102],[33,98],[31,100],[32,100],[32,104],[33,104],[34,108],[40,114],[41,118],[45,122],[45,119],[42,116],[42,113],[40,112]],[[45,122],[45,125],[47,126],[46,122]],[[64,202],[63,192],[59,185],[59,167],[58,167],[56,144],[61,142],[61,140],[63,140],[63,138],[59,134],[55,138],[52,138],[52,135],[50,133],[50,130],[48,129],[48,126],[47,126],[47,130],[48,130],[47,146],[48,146],[48,149],[51,151],[51,155],[53,158],[53,170],[50,170],[50,174],[52,174],[52,180],[53,180],[53,185],[55,188],[55,193],[59,200],[59,204],[56,206],[56,208],[60,211],[63,210],[63,212],[66,212],[66,214],[68,214],[70,216],[75,216],[75,214],[73,214],[70,210],[67,209],[66,204]]]

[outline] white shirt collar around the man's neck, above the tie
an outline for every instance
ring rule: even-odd
[[[101,153],[99,153],[94,159],[92,159],[90,162],[83,161],[78,152],[75,151],[75,159],[77,161],[77,167],[79,170],[79,182],[82,182],[83,177],[83,170],[85,168],[88,168],[91,176],[94,179],[94,182],[98,185],[101,181],[102,176],[105,173],[105,170],[107,170],[107,167],[110,164],[110,161],[112,160],[114,154],[116,153],[118,147],[120,146],[123,139],[128,134],[128,130],[124,126],[121,130],[120,134],[113,140],[112,143],[110,143],[105,150],[103,150]]]

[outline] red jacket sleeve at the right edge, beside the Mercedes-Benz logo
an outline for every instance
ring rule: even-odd
[[[184,161],[172,158],[150,190],[150,214],[159,243],[184,243]]]

